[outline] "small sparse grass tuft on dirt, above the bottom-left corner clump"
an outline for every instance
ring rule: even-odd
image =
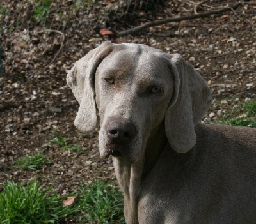
[[[24,170],[37,170],[43,165],[49,164],[47,156],[44,156],[43,151],[39,151],[38,154],[33,156],[26,156],[20,158],[20,160],[15,161],[15,164]]]

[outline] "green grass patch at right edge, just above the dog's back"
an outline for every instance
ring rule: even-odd
[[[217,123],[256,128],[256,101],[244,103],[244,105],[238,107],[234,112],[232,112],[231,116],[234,115],[236,115],[236,117],[231,119],[223,117],[220,121],[217,121]]]

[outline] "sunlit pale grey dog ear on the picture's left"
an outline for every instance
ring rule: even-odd
[[[67,75],[68,86],[80,104],[75,126],[80,131],[90,132],[97,125],[95,103],[95,72],[101,61],[113,50],[113,43],[106,41],[74,64]]]

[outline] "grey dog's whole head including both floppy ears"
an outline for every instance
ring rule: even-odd
[[[164,119],[170,146],[189,151],[212,100],[205,80],[179,54],[145,45],[106,41],[76,62],[67,82],[80,104],[76,127],[92,131],[98,110],[100,155],[131,163]]]

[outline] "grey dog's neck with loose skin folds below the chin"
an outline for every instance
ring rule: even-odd
[[[145,153],[136,163],[129,163],[124,158],[114,158],[115,172],[118,183],[124,192],[124,213],[128,224],[138,224],[138,196],[141,181],[158,160],[164,149],[167,138],[164,131],[164,122],[159,124],[145,144]]]

